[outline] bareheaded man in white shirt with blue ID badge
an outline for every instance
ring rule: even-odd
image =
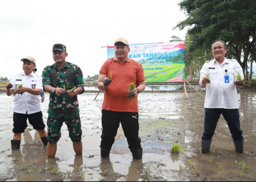
[[[211,139],[221,114],[229,127],[235,151],[243,153],[244,137],[240,129],[239,105],[235,86],[244,85],[244,81],[239,84],[238,80],[236,80],[238,73],[242,79],[244,74],[236,60],[225,58],[226,53],[227,45],[223,40],[213,41],[212,55],[214,59],[207,61],[200,71],[199,85],[201,88],[206,87],[202,154],[210,151]]]

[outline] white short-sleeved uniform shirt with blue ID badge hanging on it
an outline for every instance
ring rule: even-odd
[[[221,65],[215,59],[204,63],[200,70],[200,82],[203,77],[206,78],[205,74],[209,74],[211,82],[206,86],[204,108],[239,108],[235,86],[238,72],[243,79],[242,67],[233,59],[225,58]],[[229,76],[229,83],[225,82],[225,75]]]

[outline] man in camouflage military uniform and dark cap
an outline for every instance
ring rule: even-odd
[[[56,154],[63,122],[67,124],[75,153],[82,154],[82,129],[77,94],[84,92],[83,73],[77,65],[65,61],[68,56],[66,46],[54,44],[52,52],[55,63],[46,66],[42,72],[44,91],[50,93],[47,111],[47,156],[51,158]],[[75,90],[69,91],[74,87]]]

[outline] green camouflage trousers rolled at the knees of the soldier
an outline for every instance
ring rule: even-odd
[[[48,141],[50,143],[57,143],[61,137],[61,126],[63,122],[67,124],[69,137],[72,142],[80,142],[82,139],[82,129],[79,112],[69,115],[65,114],[48,114]]]

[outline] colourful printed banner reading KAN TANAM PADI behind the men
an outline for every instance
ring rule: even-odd
[[[128,57],[142,64],[145,82],[185,81],[185,43],[130,44]],[[108,59],[115,57],[108,46]]]

